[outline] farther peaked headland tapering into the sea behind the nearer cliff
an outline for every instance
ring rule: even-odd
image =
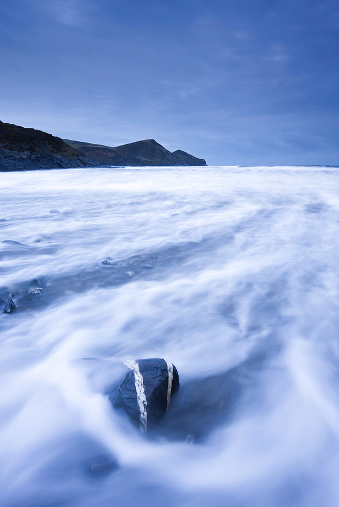
[[[195,166],[207,165],[204,159],[193,157],[189,153],[166,150],[154,139],[130,142],[110,147],[103,144],[63,139],[72,148],[83,152],[103,165],[114,166]]]

